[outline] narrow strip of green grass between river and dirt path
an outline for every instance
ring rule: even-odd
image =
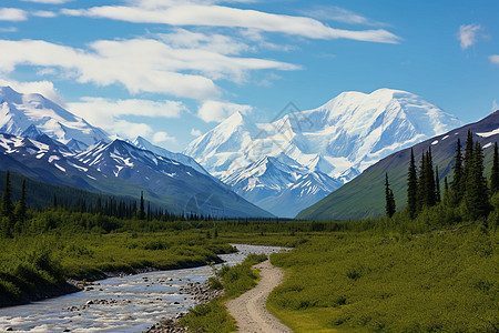
[[[189,332],[236,332],[235,321],[228,314],[224,303],[237,297],[258,283],[258,271],[252,269],[252,266],[264,260],[266,260],[265,254],[249,254],[241,264],[232,268],[222,266],[216,272],[216,276],[225,290],[225,295],[190,310],[189,314],[181,320],[180,325],[187,326]]]

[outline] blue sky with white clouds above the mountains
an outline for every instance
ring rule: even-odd
[[[499,109],[499,1],[2,0],[0,84],[181,151],[240,110],[343,91]]]

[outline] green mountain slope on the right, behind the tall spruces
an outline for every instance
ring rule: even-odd
[[[452,178],[451,165],[456,152],[456,142],[466,142],[468,130],[485,148],[486,163],[490,162],[493,142],[499,141],[499,111],[471,124],[430,138],[413,147],[417,164],[421,154],[431,147],[434,164],[438,165],[440,188],[444,178]],[[407,169],[410,148],[404,149],[380,160],[365,170],[359,176],[333,192],[316,204],[303,210],[296,218],[304,220],[357,220],[377,218],[385,212],[385,173],[389,175],[395,194],[397,210],[407,203]],[[490,165],[486,168],[489,170]]]

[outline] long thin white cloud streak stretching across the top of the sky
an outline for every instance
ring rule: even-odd
[[[157,3],[159,1],[142,1],[142,7],[102,6],[90,9],[67,9],[62,13],[134,23],[247,28],[310,39],[344,38],[383,43],[398,43],[400,40],[399,37],[383,29],[361,31],[335,29],[307,17],[274,14],[223,6],[179,4],[175,1],[165,1],[165,4],[161,7]]]

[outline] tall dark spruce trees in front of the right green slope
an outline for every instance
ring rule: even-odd
[[[475,141],[468,131],[465,154],[458,139],[452,164],[452,181],[444,179],[444,194],[440,193],[438,167],[434,168],[431,148],[424,152],[416,167],[413,149],[407,172],[407,208],[409,219],[416,219],[427,208],[444,205],[459,209],[466,218],[477,220],[487,218],[492,210],[490,198],[499,192],[499,157],[498,144],[493,145],[492,171],[490,182],[483,175],[483,149]],[[389,186],[388,173],[385,182],[386,215],[391,218],[396,206],[394,194]]]

